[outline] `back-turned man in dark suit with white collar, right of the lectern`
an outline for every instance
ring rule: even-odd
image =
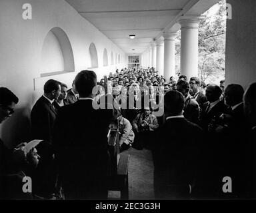
[[[181,93],[169,91],[164,102],[166,122],[153,137],[155,198],[189,198],[199,154],[197,136],[202,135],[202,130],[184,118],[185,101]]]

